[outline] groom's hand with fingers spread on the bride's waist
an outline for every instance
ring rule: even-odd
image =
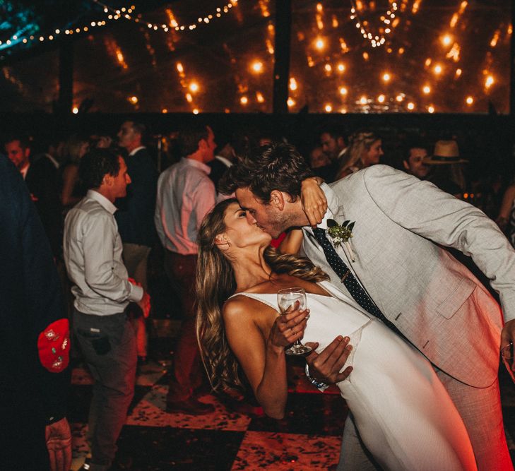
[[[351,350],[353,350],[353,346],[348,344],[348,337],[343,338],[341,335],[338,335],[318,354],[314,351],[318,343],[307,342],[306,345],[313,349],[306,357],[306,362],[309,366],[309,376],[326,384],[339,383],[347,378],[350,372],[353,371],[353,367],[348,366],[342,372],[340,370],[347,362]]]

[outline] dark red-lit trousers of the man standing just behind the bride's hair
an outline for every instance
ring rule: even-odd
[[[183,321],[173,360],[173,375],[168,392],[169,402],[187,400],[202,383],[199,347],[195,333],[196,255],[165,251],[165,270],[172,290],[182,302]]]

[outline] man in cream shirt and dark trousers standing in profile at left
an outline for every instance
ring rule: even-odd
[[[149,297],[128,279],[114,200],[131,183],[122,157],[95,149],[81,159],[79,177],[88,189],[66,215],[64,261],[73,282],[73,331],[95,384],[88,441],[92,458],[83,467],[108,470],[134,395],[136,338],[124,312],[129,302],[148,309]]]

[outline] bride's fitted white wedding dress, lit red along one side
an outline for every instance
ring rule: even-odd
[[[338,383],[362,441],[386,470],[476,470],[461,417],[430,362],[329,282],[331,296],[307,294],[310,318],[302,342],[350,337],[353,351]],[[278,311],[277,294],[237,293]]]

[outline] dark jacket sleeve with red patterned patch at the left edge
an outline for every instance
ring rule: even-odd
[[[8,386],[11,400],[48,422],[66,412],[69,374],[63,370],[68,363],[68,320],[42,223],[21,175],[4,157],[0,157],[0,181],[1,382]],[[54,355],[46,345],[40,349],[38,340],[56,321],[61,330],[54,328],[60,335],[59,342],[53,343],[59,347]],[[61,361],[52,368],[58,357]]]

